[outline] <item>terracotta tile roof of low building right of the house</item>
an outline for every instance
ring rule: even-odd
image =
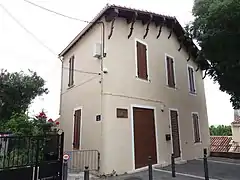
[[[231,147],[231,136],[211,136],[210,151],[211,152],[228,152]]]

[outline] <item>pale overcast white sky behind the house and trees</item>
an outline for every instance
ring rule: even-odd
[[[193,19],[193,0],[30,0],[62,14],[83,20],[92,18],[106,3],[144,9],[176,16],[184,26]],[[23,26],[51,50],[22,29],[0,6],[0,68],[9,71],[37,71],[46,80],[50,93],[37,98],[31,105],[32,114],[45,109],[49,117],[57,118],[60,98],[61,63],[57,54],[79,33],[86,23],[63,18],[34,7],[23,0],[0,0]],[[229,96],[209,78],[205,80],[208,119],[210,124],[229,124],[233,110]]]

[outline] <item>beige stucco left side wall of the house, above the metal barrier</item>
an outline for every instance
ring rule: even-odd
[[[96,115],[100,114],[100,76],[98,74],[81,73],[100,72],[100,62],[93,57],[93,47],[101,40],[100,26],[95,26],[65,56],[63,60],[63,79],[61,95],[61,128],[65,132],[65,150],[72,150],[73,114],[82,108],[81,149],[100,150],[100,122]],[[74,87],[68,88],[68,67],[70,57],[75,56]]]

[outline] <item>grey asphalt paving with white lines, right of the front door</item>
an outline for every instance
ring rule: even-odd
[[[224,161],[224,159],[212,159],[208,161],[209,177],[218,180],[239,180],[240,164]],[[171,170],[171,167],[161,168],[163,170]],[[176,165],[176,171],[179,173],[191,174],[204,177],[203,161],[192,160],[186,164]]]

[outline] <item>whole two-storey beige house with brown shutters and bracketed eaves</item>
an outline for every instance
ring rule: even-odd
[[[65,150],[99,150],[106,174],[142,168],[148,156],[161,165],[172,153],[202,157],[210,145],[207,62],[197,52],[174,17],[104,8],[60,53]]]

